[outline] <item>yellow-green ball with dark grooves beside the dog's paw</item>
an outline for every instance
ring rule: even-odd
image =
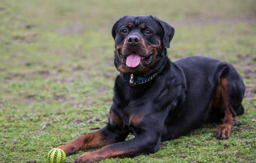
[[[66,153],[58,148],[54,148],[49,151],[47,160],[49,163],[64,163],[66,159]]]

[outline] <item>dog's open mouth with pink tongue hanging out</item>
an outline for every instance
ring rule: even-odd
[[[140,63],[143,65],[148,65],[155,53],[155,50],[150,52],[147,57],[141,57],[138,53],[135,51],[132,51],[127,57],[125,57],[122,53],[121,50],[119,51],[119,55],[121,57],[122,63],[124,63],[128,67],[137,67]]]

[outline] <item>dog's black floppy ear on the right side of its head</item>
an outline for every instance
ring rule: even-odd
[[[155,20],[158,21],[160,27],[162,28],[162,42],[163,45],[167,48],[170,47],[170,42],[172,40],[172,37],[174,36],[175,30],[172,26],[170,26],[168,23],[165,23],[164,21],[158,19],[157,17],[154,17]]]

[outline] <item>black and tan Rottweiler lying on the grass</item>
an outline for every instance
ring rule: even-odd
[[[167,48],[175,30],[153,16],[124,16],[112,28],[115,39],[114,97],[108,123],[94,133],[58,146],[68,155],[84,153],[74,163],[155,153],[159,143],[217,122],[217,139],[227,139],[244,113],[245,85],[231,64],[206,57],[172,62]],[[125,141],[129,133],[135,137]]]

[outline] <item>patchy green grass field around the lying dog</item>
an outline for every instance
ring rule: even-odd
[[[117,75],[111,27],[123,15],[149,14],[175,27],[173,61],[234,65],[246,113],[228,140],[214,137],[221,122],[210,123],[157,153],[101,163],[255,163],[255,0],[0,0],[0,163],[47,163],[53,147],[103,127]]]

